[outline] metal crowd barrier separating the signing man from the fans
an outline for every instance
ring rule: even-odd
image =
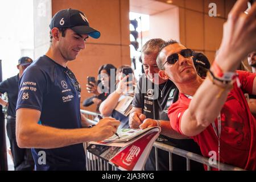
[[[81,110],[82,114],[85,114],[85,117],[88,119],[92,119],[98,115],[98,113],[94,113],[91,111]],[[95,121],[94,121],[95,122]],[[116,167],[112,166],[112,164],[107,163],[105,160],[98,158],[97,156],[91,154],[86,150],[88,143],[84,143],[85,154],[86,154],[86,169],[88,171],[114,171],[117,170]],[[173,147],[167,144],[154,142],[155,148],[155,162],[156,162],[156,171],[158,171],[158,150],[164,150],[169,152],[169,170],[172,171],[172,154],[176,154],[182,156],[187,159],[187,171],[190,171],[190,162],[194,160],[198,163],[207,165],[208,171],[211,168],[218,168],[218,164],[210,164],[209,158],[205,158],[204,156],[195,154],[193,152],[185,151],[177,147]],[[222,171],[245,171],[245,169],[231,166],[229,164],[220,163],[220,170]]]

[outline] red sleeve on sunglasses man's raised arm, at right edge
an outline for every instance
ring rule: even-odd
[[[253,93],[253,81],[256,73],[250,73],[246,71],[237,71],[239,80],[241,82],[241,89],[244,93]]]

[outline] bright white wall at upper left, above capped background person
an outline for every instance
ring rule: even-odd
[[[0,59],[3,80],[18,73],[21,56],[34,59],[33,1],[0,1]]]

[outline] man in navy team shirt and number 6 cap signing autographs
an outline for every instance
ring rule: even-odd
[[[80,113],[80,85],[67,67],[85,48],[86,39],[99,38],[79,10],[56,13],[50,24],[51,46],[24,72],[16,106],[18,146],[32,148],[36,170],[83,170],[82,142],[112,136],[119,125],[104,118],[90,129]]]

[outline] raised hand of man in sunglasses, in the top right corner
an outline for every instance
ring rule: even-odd
[[[248,14],[244,13],[246,9],[247,0],[238,0],[224,23],[222,42],[216,57],[223,71],[235,71],[242,59],[256,49],[256,3]]]

